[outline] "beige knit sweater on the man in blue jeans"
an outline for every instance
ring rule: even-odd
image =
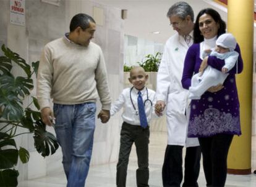
[[[110,109],[108,78],[100,46],[90,42],[84,47],[66,38],[46,44],[38,68],[36,95],[41,109],[51,106],[51,98],[54,103],[75,105],[95,102],[98,95],[102,108]]]

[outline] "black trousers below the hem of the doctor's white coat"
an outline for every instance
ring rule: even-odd
[[[179,145],[167,145],[162,170],[163,186],[181,186],[182,181],[182,148]],[[198,186],[200,172],[200,146],[186,148],[183,187]]]

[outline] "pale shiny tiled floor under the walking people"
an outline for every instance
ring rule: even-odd
[[[150,134],[150,180],[151,187],[162,186],[161,184],[161,166],[163,164],[164,149],[166,148],[166,133],[151,132]],[[256,137],[252,138],[252,168],[256,169]],[[137,169],[137,157],[135,150],[132,149],[127,174],[127,187],[135,187],[135,170]],[[115,186],[116,162],[105,165],[95,165],[90,167],[87,178],[87,187],[113,187]],[[199,186],[205,186],[205,178],[201,166],[200,176],[198,178]],[[20,187],[64,187],[66,186],[66,177],[63,172],[56,175],[34,180],[22,181]],[[256,186],[256,174],[251,175],[228,175],[226,186]]]

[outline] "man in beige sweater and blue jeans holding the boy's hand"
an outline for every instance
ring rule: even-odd
[[[53,125],[62,148],[67,186],[82,187],[88,174],[95,130],[96,98],[102,109],[98,117],[108,122],[111,98],[101,48],[90,40],[95,20],[75,15],[70,33],[46,44],[37,75],[41,116]],[[53,110],[51,109],[53,98]]]

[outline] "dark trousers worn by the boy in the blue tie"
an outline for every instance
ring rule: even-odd
[[[121,129],[119,159],[117,163],[116,185],[126,186],[127,166],[129,162],[130,150],[135,143],[139,168],[136,171],[137,186],[148,186],[148,143],[150,131],[149,127],[143,129],[139,125],[130,125],[123,122]]]

